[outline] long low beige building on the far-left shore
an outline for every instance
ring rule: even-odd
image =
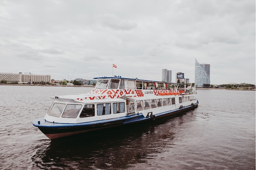
[[[36,75],[36,74],[22,74],[20,73],[0,73],[0,81],[7,82],[29,83],[29,82],[51,82],[51,75]]]

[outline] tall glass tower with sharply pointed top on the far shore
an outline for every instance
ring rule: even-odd
[[[203,87],[210,82],[210,64],[199,64],[195,58],[195,85]]]

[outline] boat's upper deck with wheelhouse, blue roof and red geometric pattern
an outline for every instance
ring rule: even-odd
[[[98,81],[95,88],[92,89],[89,94],[52,97],[52,99],[54,100],[55,98],[55,100],[58,101],[75,101],[84,103],[88,101],[95,101],[97,99],[107,98],[118,99],[120,97],[154,97],[159,95],[179,95],[180,93],[196,93],[194,87],[188,87],[185,91],[179,90],[178,85],[180,83],[142,80],[137,78],[123,78],[121,76],[97,77],[94,79],[98,79]],[[151,86],[149,86],[150,84]],[[162,84],[163,87],[159,88],[159,84]],[[168,88],[168,84],[174,84],[174,88]]]

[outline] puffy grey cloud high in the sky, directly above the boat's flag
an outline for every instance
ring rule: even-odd
[[[103,14],[95,16],[95,19],[103,26],[113,30],[132,30],[137,28],[138,24],[118,18],[114,14]]]

